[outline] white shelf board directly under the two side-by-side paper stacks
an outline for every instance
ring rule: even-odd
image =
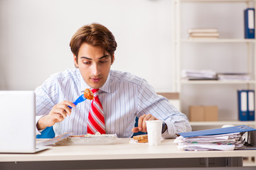
[[[181,84],[256,84],[256,81],[182,80]]]

